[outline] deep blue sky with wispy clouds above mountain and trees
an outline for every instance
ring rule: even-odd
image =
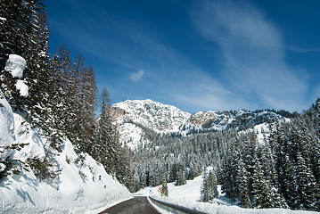
[[[92,65],[111,103],[302,111],[320,96],[318,0],[47,0],[53,53]]]

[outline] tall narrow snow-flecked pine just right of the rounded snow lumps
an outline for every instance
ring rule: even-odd
[[[54,69],[48,53],[49,29],[45,9],[37,13],[37,31],[32,34],[32,49],[26,80],[29,83],[27,118],[34,127],[42,128],[46,136],[55,129],[53,120]]]

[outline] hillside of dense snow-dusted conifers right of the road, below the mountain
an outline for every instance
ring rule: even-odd
[[[270,123],[249,122],[242,131],[203,129],[185,136],[140,126],[146,143],[133,152],[134,188],[164,180],[185,185],[211,167],[203,174],[203,202],[217,197],[220,184],[245,208],[319,210],[319,104],[291,119],[276,114]]]

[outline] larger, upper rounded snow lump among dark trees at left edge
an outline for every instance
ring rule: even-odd
[[[26,66],[27,62],[23,57],[17,54],[10,54],[4,70],[10,72],[13,78],[22,78],[23,70],[26,69]]]

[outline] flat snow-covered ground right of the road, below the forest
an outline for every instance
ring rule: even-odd
[[[320,214],[315,211],[285,210],[285,209],[243,209],[230,202],[221,193],[221,186],[218,186],[219,197],[214,203],[199,202],[202,177],[195,177],[188,180],[186,185],[176,186],[168,184],[168,197],[161,197],[158,189],[160,186],[146,187],[136,194],[152,196],[155,199],[173,203],[191,210],[199,210],[211,214]]]

